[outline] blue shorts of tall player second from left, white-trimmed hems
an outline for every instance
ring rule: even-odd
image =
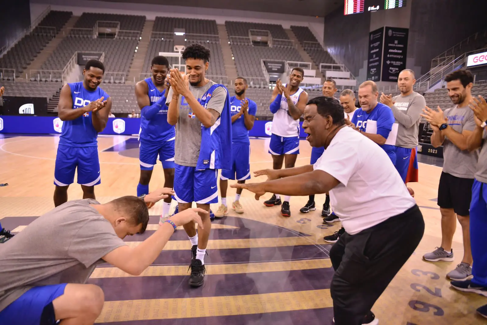
[[[157,155],[163,168],[174,168],[174,139],[157,144],[140,141],[140,169],[152,170],[157,163]]]

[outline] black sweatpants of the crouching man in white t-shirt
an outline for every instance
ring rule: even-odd
[[[425,223],[417,205],[356,235],[344,233],[330,250],[336,325],[361,325],[423,238]]]

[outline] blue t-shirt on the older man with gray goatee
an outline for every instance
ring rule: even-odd
[[[367,132],[367,130],[375,130],[375,132],[369,133],[380,134],[387,140],[393,129],[394,121],[395,119],[391,108],[378,102],[370,113],[365,112],[361,108],[356,109],[351,122],[354,123],[360,131]],[[380,147],[388,154],[394,152],[394,145],[382,144]]]

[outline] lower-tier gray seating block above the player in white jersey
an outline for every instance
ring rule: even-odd
[[[294,47],[232,44],[237,72],[244,77],[264,77],[261,60],[304,61]]]

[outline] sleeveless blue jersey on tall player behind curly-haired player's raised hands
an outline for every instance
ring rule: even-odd
[[[166,90],[160,92],[152,82],[152,78],[145,80],[149,86],[149,99],[152,106],[164,97]],[[140,140],[150,142],[164,142],[176,136],[173,125],[168,123],[168,106],[166,101],[161,105],[159,112],[150,120],[140,116]]]

